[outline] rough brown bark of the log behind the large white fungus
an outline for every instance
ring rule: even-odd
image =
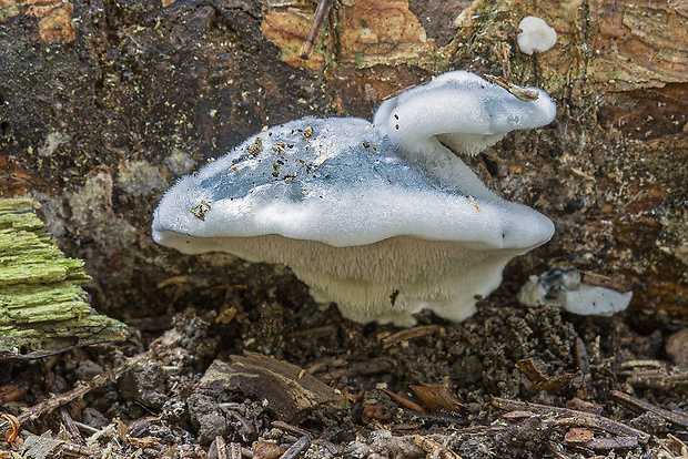
[[[557,226],[507,269],[504,288],[566,258],[630,286],[633,308],[686,320],[686,3],[342,0],[302,61],[313,9],[0,0],[0,193],[43,204],[61,247],[85,259],[102,312],[160,314],[199,293],[223,303],[231,295],[217,286],[235,293],[271,273],[152,243],[152,211],[176,177],[264,125],[370,118],[404,88],[466,69],[542,86],[558,105],[556,128],[509,135],[472,164]],[[527,14],[557,30],[553,50],[518,51]],[[285,287],[294,282],[280,274],[264,286],[300,304],[305,290]],[[251,300],[272,298],[262,295]]]

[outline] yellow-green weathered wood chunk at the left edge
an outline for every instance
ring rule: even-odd
[[[97,314],[80,259],[54,245],[30,198],[0,198],[0,360],[33,358],[125,338],[127,326]]]

